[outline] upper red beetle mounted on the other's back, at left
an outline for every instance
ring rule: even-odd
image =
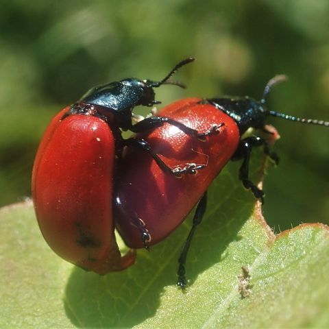
[[[154,88],[178,84],[169,82],[169,77],[193,60],[182,60],[160,82],[130,78],[92,88],[51,121],[34,162],[32,195],[40,230],[59,256],[99,274],[134,263],[136,253],[132,250],[121,257],[112,219],[114,176],[123,147],[146,151],[171,175],[195,173],[198,168],[171,169],[146,141],[123,139],[121,129],[143,132],[170,123],[186,134],[204,138],[204,134],[166,117],[132,125],[134,107],[159,103],[154,99]]]

